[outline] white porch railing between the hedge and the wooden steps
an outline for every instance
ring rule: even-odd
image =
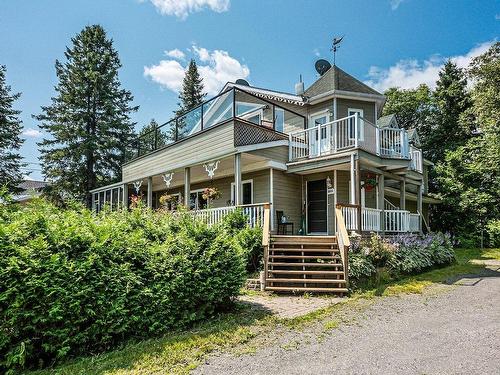
[[[188,211],[188,214],[202,220],[212,226],[222,221],[229,213],[241,209],[247,217],[247,224],[254,227],[262,227],[264,224],[264,210],[268,203],[245,204],[240,206],[227,206],[217,208],[206,208],[203,210]]]

